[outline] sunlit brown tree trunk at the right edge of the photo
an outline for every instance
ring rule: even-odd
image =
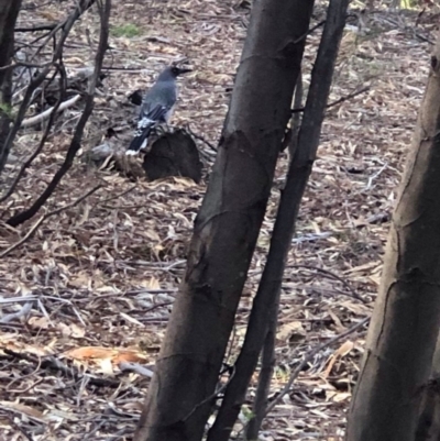
[[[348,441],[414,441],[440,323],[440,42],[393,216]]]

